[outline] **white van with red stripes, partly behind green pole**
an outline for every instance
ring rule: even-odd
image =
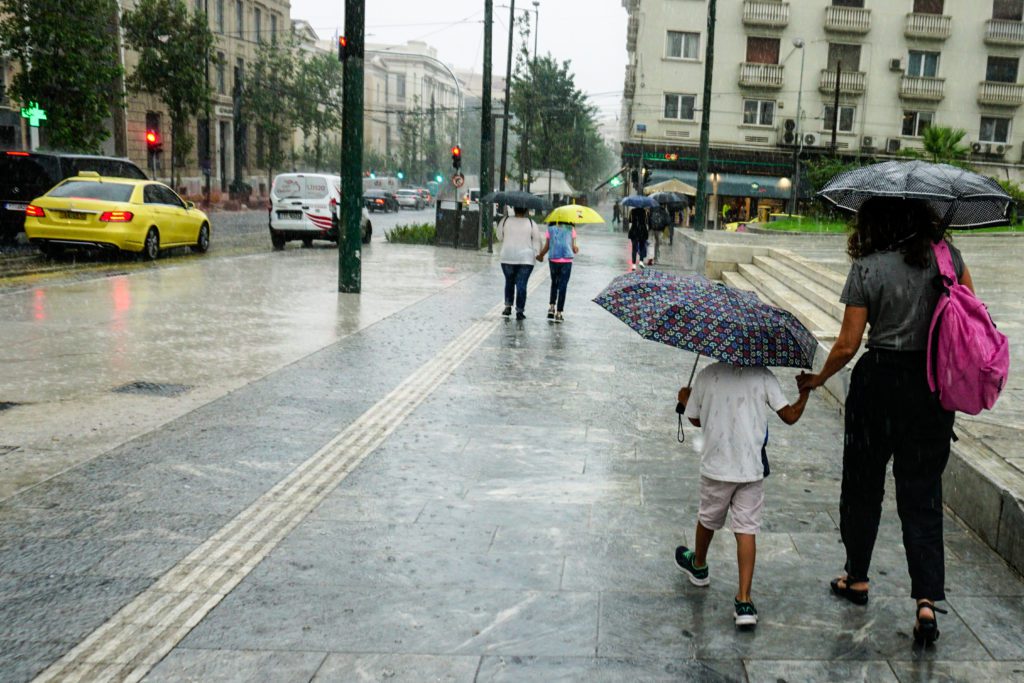
[[[361,201],[361,199],[360,199]],[[308,247],[313,240],[338,242],[341,178],[325,173],[281,173],[270,187],[270,244],[284,249],[291,240]],[[362,208],[362,244],[370,244],[373,225]]]

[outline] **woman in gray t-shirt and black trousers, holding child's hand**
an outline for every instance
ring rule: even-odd
[[[840,495],[846,567],[831,581],[831,591],[867,604],[886,466],[892,459],[920,644],[938,638],[935,613],[944,610],[935,603],[945,599],[942,472],[949,460],[953,413],[929,390],[927,377],[929,327],[940,296],[932,243],[940,239],[947,240],[945,228],[927,201],[865,201],[848,244],[853,264],[840,299],[846,310],[839,338],[821,372],[798,380],[802,390],[824,384],[854,357],[870,325],[867,352],[853,369],[846,398]],[[961,253],[952,245],[949,252],[958,282],[973,291]]]

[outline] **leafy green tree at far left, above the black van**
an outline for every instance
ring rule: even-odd
[[[47,111],[48,146],[96,153],[109,137],[117,14],[116,0],[0,0],[0,50],[20,65],[10,93]]]

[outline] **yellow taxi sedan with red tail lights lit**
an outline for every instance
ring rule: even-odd
[[[157,258],[162,249],[210,248],[210,219],[167,185],[83,171],[25,211],[25,234],[44,254],[66,247],[116,249]]]

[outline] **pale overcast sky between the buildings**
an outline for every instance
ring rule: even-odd
[[[591,95],[603,115],[616,115],[626,68],[627,14],[622,0],[540,1],[541,54],[570,59],[577,86]],[[344,27],[343,7],[341,0],[292,0],[292,18],[306,19],[321,38],[332,38]],[[532,0],[516,0],[516,13],[523,8],[532,17]],[[497,74],[505,71],[508,22],[507,0],[495,0]],[[483,0],[367,0],[368,42],[408,40],[433,45],[440,58],[455,67],[482,71]]]

